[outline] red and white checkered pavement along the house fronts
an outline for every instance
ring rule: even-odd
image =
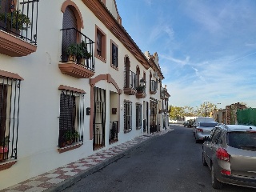
[[[116,157],[116,159],[121,158],[126,154],[127,150],[134,148],[134,146],[137,146],[139,143],[144,142],[154,136],[166,134],[170,130],[171,129],[167,129],[163,130],[162,132],[139,136],[138,138],[134,138],[133,140],[124,142],[118,146],[113,146],[109,149],[101,150],[98,153],[92,154],[86,158],[82,158],[76,162],[71,162],[66,166],[58,167],[57,169],[51,170],[45,174],[38,175],[37,177],[30,178],[24,182],[20,182],[17,185],[10,186],[4,190],[0,190],[0,192],[59,191],[56,189],[63,188],[62,185],[64,185],[64,183],[66,183],[66,186],[69,186],[75,182],[74,179],[71,181],[71,178],[77,177],[79,179],[86,177],[86,175],[93,173],[94,171],[99,170],[100,168],[113,162],[114,157]],[[101,164],[102,167],[99,166]],[[82,176],[82,174],[84,176]]]

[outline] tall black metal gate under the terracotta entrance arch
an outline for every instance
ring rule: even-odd
[[[106,91],[94,87],[94,150],[105,146],[105,124]]]

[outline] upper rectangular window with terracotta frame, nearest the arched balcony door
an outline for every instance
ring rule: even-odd
[[[106,34],[96,26],[96,58],[106,62]]]

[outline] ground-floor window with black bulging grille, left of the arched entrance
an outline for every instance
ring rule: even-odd
[[[60,86],[59,89],[62,90]],[[70,88],[70,87],[68,87]],[[60,94],[58,146],[63,147],[75,142],[83,142],[84,97],[83,92],[62,90]]]

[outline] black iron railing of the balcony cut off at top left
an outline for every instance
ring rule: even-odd
[[[0,1],[0,29],[37,44],[39,0]]]

